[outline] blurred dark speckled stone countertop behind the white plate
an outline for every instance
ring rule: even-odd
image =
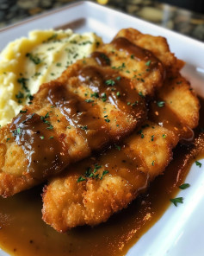
[[[0,0],[0,29],[71,0]],[[204,42],[204,0],[92,0]]]

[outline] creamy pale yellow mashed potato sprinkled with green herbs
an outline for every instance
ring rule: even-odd
[[[74,61],[102,43],[94,33],[35,30],[10,42],[0,54],[0,125],[6,125],[32,99],[39,86],[54,80]]]

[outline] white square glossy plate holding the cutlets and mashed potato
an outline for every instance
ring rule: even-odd
[[[204,43],[96,3],[74,3],[1,29],[0,50],[15,38],[28,35],[32,29],[71,28],[77,33],[94,31],[102,36],[104,42],[109,42],[118,30],[128,27],[166,37],[170,50],[187,63],[182,74],[195,91],[204,97]],[[201,169],[198,170],[194,164],[187,176],[186,182],[191,187],[178,195],[183,196],[185,202],[178,208],[170,206],[162,218],[129,250],[128,256],[204,255],[204,159],[201,163]],[[0,251],[0,256],[5,255],[8,254]]]

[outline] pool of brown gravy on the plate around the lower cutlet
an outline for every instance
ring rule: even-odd
[[[203,115],[204,100],[201,99],[200,116]],[[195,138],[203,127],[204,120],[201,119],[195,130]],[[202,137],[201,144],[203,140]],[[199,150],[199,147],[193,150],[192,144],[178,145],[174,150],[174,160],[164,175],[151,182],[146,193],[140,195],[127,209],[114,214],[98,227],[77,227],[66,234],[58,234],[41,221],[40,187],[8,199],[1,198],[1,246],[11,255],[18,256],[81,256],[82,253],[84,256],[125,255],[141,235],[164,214],[170,206],[170,198],[176,197],[178,187],[184,182],[191,163],[201,157],[204,157],[204,151]],[[114,156],[111,164],[116,164]],[[128,167],[132,165],[127,164]]]

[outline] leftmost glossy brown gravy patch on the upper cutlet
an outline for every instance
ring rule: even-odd
[[[10,126],[17,144],[28,156],[29,173],[38,178],[54,174],[65,168],[65,146],[56,137],[53,129],[42,121],[38,114],[20,114]]]

